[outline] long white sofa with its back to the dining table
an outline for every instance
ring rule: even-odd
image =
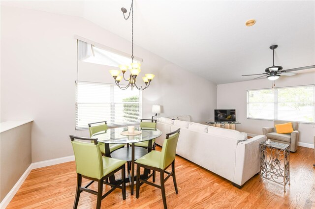
[[[193,122],[158,118],[163,134],[156,143],[163,145],[165,134],[181,129],[176,154],[231,181],[241,188],[259,173],[259,143],[266,136],[247,139],[246,133]]]

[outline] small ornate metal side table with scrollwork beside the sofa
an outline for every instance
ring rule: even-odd
[[[266,141],[260,143],[260,177],[290,185],[290,145]]]

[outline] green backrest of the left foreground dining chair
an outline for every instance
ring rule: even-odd
[[[103,160],[97,139],[77,137],[70,135],[75,157],[77,173],[90,178],[101,179],[103,177]],[[94,144],[79,140],[93,141]]]

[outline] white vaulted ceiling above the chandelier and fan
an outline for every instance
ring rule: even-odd
[[[130,3],[1,1],[82,17],[128,40],[131,22],[120,9]],[[256,24],[245,26],[249,19]],[[284,69],[315,64],[315,1],[135,0],[134,42],[215,83],[250,80],[241,75],[271,66],[274,44]]]

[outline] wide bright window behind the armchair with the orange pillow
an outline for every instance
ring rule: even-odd
[[[247,91],[247,118],[314,123],[314,85]]]

